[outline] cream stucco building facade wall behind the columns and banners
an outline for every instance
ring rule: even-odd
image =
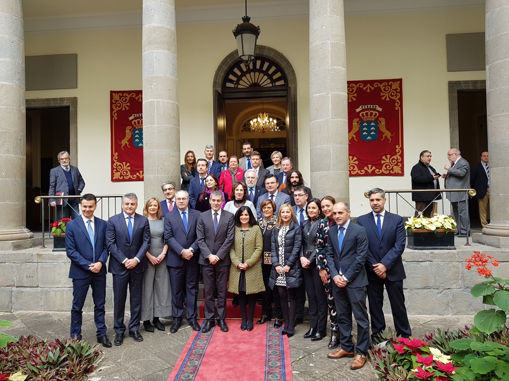
[[[365,189],[408,188],[418,152],[430,149],[437,170],[449,148],[447,82],[485,79],[485,72],[447,73],[445,35],[484,31],[484,8],[347,14],[349,80],[403,78],[404,177],[350,179],[353,215],[369,210]],[[299,170],[309,179],[307,18],[252,20],[259,43],[284,54],[297,75]],[[181,151],[198,155],[213,142],[212,79],[221,60],[236,48],[232,22],[178,24]],[[27,91],[26,98],[78,98],[78,152],[74,163],[93,193],[136,192],[139,182],[110,182],[109,91],[142,87],[141,28],[27,33],[25,55],[78,54],[78,88]],[[147,195],[153,196],[153,195]],[[159,195],[158,195],[159,196]],[[403,213],[404,214],[404,213]]]

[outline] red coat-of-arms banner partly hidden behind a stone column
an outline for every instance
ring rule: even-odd
[[[111,181],[143,181],[142,90],[110,91]]]

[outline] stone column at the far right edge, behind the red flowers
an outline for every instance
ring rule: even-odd
[[[486,101],[490,224],[486,243],[509,247],[509,0],[486,0]]]

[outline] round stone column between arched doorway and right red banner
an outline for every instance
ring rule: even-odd
[[[350,203],[343,0],[309,1],[309,135],[313,194]]]

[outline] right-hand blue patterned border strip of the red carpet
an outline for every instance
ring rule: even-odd
[[[280,328],[267,323],[267,350],[265,352],[265,381],[285,381],[285,347]]]

